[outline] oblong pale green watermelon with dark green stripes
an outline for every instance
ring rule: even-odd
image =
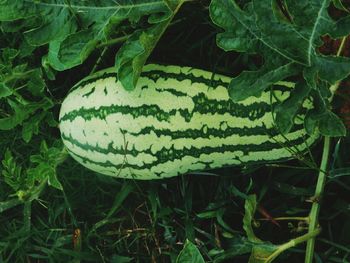
[[[273,96],[266,91],[235,103],[229,81],[204,70],[150,64],[137,88],[126,91],[115,69],[98,72],[75,85],[62,103],[63,142],[91,170],[147,180],[281,161],[319,137],[306,135],[302,115],[286,135],[274,128],[271,108],[288,98],[293,83],[278,83]]]

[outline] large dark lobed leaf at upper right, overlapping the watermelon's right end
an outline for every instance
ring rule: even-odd
[[[287,77],[304,77],[299,84],[304,88],[295,89],[291,98],[277,108],[277,126],[282,132],[292,128],[310,89],[322,89],[310,94],[320,93],[317,101],[326,107],[317,120],[315,114],[308,114],[305,125],[308,131],[318,130],[323,135],[345,135],[344,125],[330,113],[331,96],[322,85],[326,82],[329,87],[347,77],[350,59],[324,56],[318,47],[322,45],[321,36],[350,34],[350,16],[334,21],[328,14],[330,2],[251,0],[240,6],[235,0],[212,0],[210,4],[212,21],[224,30],[217,35],[217,45],[225,51],[257,53],[264,59],[259,70],[244,71],[232,79],[229,93],[234,101],[259,96],[271,84]]]

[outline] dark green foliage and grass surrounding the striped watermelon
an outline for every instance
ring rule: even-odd
[[[331,110],[337,113],[349,99],[336,94],[329,103],[328,88],[347,75],[349,62],[336,58],[336,50],[322,55],[319,46],[325,32],[334,38],[349,34],[349,4],[215,0],[210,10],[217,28],[208,15],[210,2],[193,1],[183,4],[158,41],[145,34],[169,19],[178,2],[154,1],[141,8],[151,1],[132,1],[135,8],[123,9],[129,2],[1,1],[0,262],[186,262],[189,256],[198,262],[259,262],[254,260],[306,233],[303,218],[311,202],[318,201],[313,193],[321,145],[302,162],[225,168],[157,182],[117,180],[67,157],[57,129],[58,110],[78,80],[94,68],[115,65],[121,43],[132,35],[123,54],[139,56],[124,56],[125,68],[120,67],[129,85],[153,48],[151,62],[236,76],[232,94],[237,89],[239,98],[291,76],[300,89],[276,108],[282,130],[290,128],[298,112],[292,105],[300,105],[310,90],[316,107],[308,113],[306,128],[343,135],[344,126]],[[311,2],[315,8],[302,6]],[[98,10],[99,5],[113,8]],[[215,5],[221,6],[221,20],[214,18]],[[340,18],[327,14],[334,8],[341,10]],[[318,12],[326,19],[315,23]],[[249,24],[256,19],[259,23]],[[298,32],[306,42],[295,38]],[[237,52],[218,48],[217,34],[221,48]],[[116,45],[108,46],[111,41]],[[254,89],[245,93],[246,83]],[[349,147],[348,137],[333,140],[320,200],[317,262],[349,261]],[[273,218],[278,217],[289,219],[276,219],[276,224]],[[305,246],[299,245],[275,262],[303,262],[304,253]]]

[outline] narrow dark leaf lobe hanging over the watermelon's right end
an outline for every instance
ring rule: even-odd
[[[295,117],[310,90],[311,86],[306,82],[298,82],[289,98],[276,107],[276,124],[281,133],[285,134],[291,130]]]

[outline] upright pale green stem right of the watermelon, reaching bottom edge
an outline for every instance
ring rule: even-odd
[[[312,233],[318,228],[318,215],[320,212],[320,203],[319,200],[322,197],[325,182],[326,182],[326,169],[328,163],[329,156],[329,148],[330,148],[330,137],[324,137],[324,145],[323,145],[323,153],[322,153],[322,161],[320,166],[320,172],[318,174],[316,190],[315,190],[315,201],[312,204],[311,211],[309,214],[309,230],[308,233]],[[305,263],[312,263],[312,259],[314,256],[314,248],[315,248],[315,238],[310,238],[307,241],[306,245],[306,254],[305,254]]]

